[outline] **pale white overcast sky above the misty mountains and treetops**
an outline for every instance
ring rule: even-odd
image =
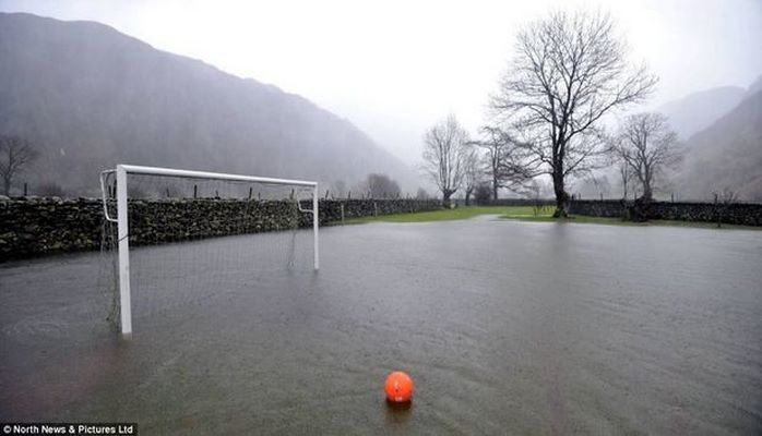
[[[0,0],[1,11],[98,21],[300,94],[410,165],[448,113],[474,132],[484,122],[523,23],[579,8],[610,12],[633,60],[660,77],[652,107],[762,74],[762,0]]]

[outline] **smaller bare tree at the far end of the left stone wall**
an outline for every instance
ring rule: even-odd
[[[442,193],[442,205],[463,185],[468,133],[455,116],[431,126],[424,136],[424,170]]]

